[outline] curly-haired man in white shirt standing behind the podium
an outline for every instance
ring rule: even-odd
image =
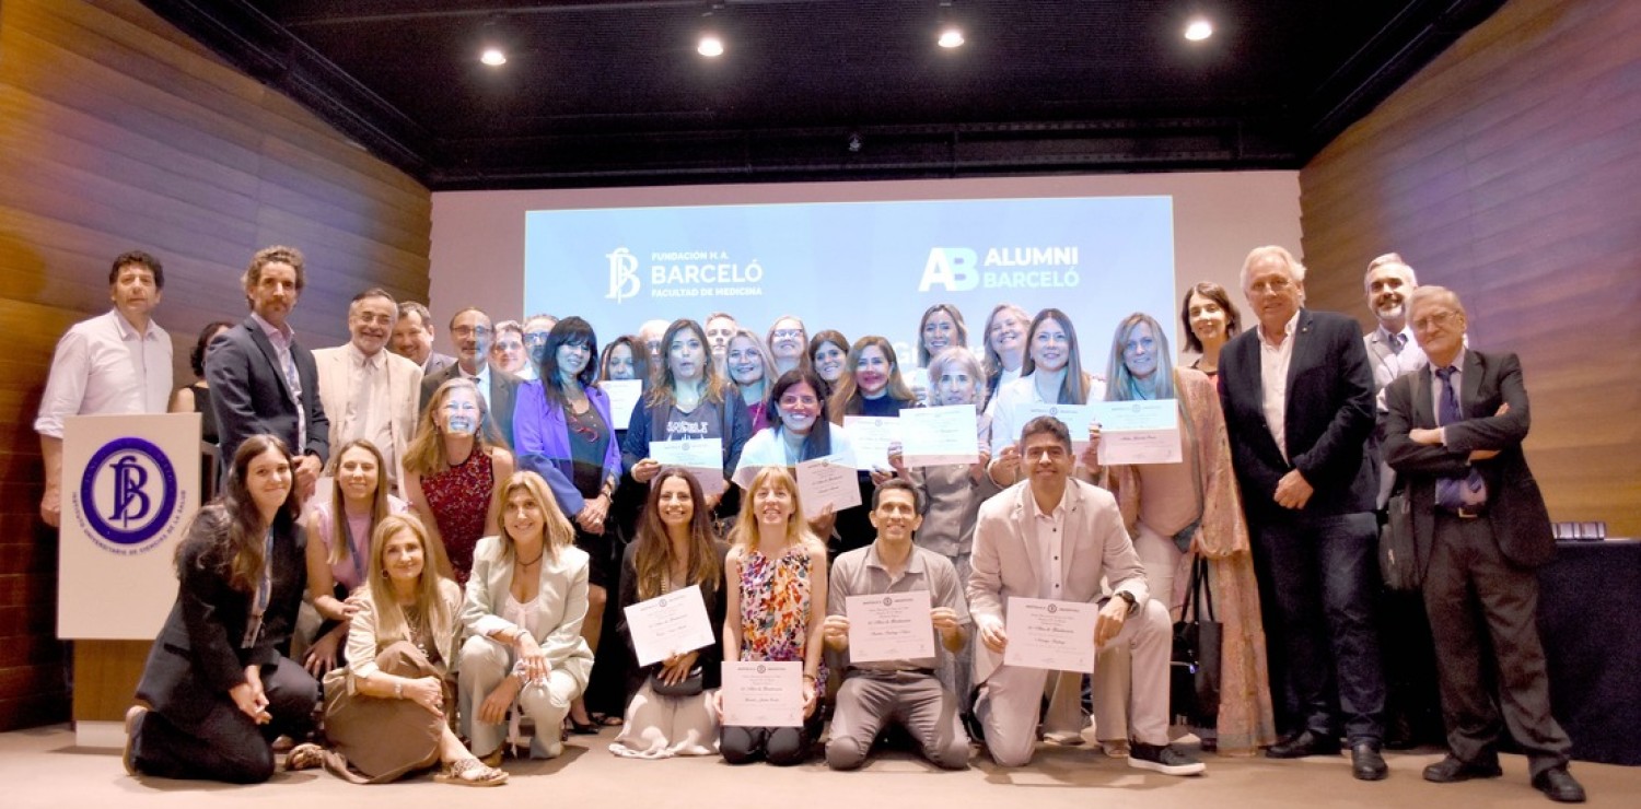
[[[121,253],[108,271],[113,309],[74,323],[51,358],[39,399],[39,455],[46,494],[39,517],[62,515],[62,418],[87,414],[162,414],[171,397],[171,336],[149,315],[159,305],[166,271],[143,251]]]

